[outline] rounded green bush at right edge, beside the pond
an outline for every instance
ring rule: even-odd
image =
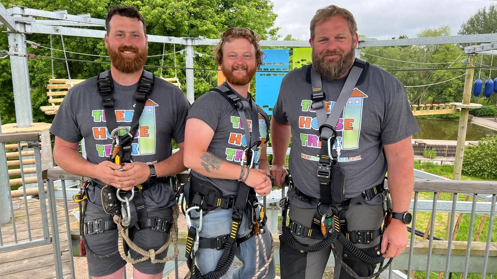
[[[497,177],[497,136],[487,136],[478,145],[464,149],[463,173],[492,179]]]

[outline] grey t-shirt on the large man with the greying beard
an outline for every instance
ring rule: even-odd
[[[316,171],[321,142],[316,112],[311,108],[310,67],[291,70],[285,76],[273,118],[291,127],[289,168],[295,185],[304,194],[319,198]],[[345,79],[322,78],[328,114]],[[336,131],[341,146],[338,164],[345,169],[345,197],[353,198],[382,182],[387,171],[383,144],[398,142],[419,129],[405,87],[387,71],[371,65],[352,90]],[[306,205],[301,202],[300,206]]]

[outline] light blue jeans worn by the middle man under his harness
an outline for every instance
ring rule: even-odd
[[[201,237],[217,237],[224,234],[229,234],[231,231],[231,214],[232,209],[215,209],[209,211],[209,213],[203,216],[202,230],[200,231]],[[240,229],[238,231],[237,237],[246,236],[252,229],[250,228],[250,209],[245,209],[244,218]],[[198,216],[198,212],[195,210],[191,211],[191,216]],[[256,213],[258,214],[258,213]],[[198,227],[198,219],[192,220],[192,224]],[[271,233],[264,227],[265,233],[262,234],[262,240],[264,241],[266,254],[264,255],[262,249],[262,243],[259,241],[259,265],[255,267],[255,255],[256,255],[256,241],[257,237],[252,236],[250,239],[241,243],[236,250],[237,258],[242,262],[242,266],[234,269],[234,264],[231,265],[228,272],[220,279],[251,279],[257,270],[261,269],[266,260],[271,254]],[[217,262],[221,258],[223,250],[199,248],[196,255],[196,265],[202,274],[206,274],[216,269]],[[274,266],[274,259],[268,265],[269,272],[265,279],[274,279],[276,276],[276,270]],[[266,270],[263,270],[257,278],[262,278]]]

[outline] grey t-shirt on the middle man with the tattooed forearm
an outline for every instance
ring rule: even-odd
[[[235,92],[242,100],[248,101],[248,99],[242,97],[238,92],[233,90],[228,83],[225,82],[224,85],[228,86],[228,88]],[[260,159],[260,149],[263,145],[266,145],[267,140],[269,140],[268,116],[259,106],[257,106],[257,112],[261,145],[259,147],[259,152],[256,152],[256,167],[258,167]],[[251,111],[245,110],[245,115],[251,132]],[[187,119],[190,118],[198,118],[214,130],[214,136],[207,148],[207,152],[230,163],[240,164],[243,150],[247,148],[245,130],[238,111],[230,105],[225,97],[215,91],[203,94],[191,105]],[[239,183],[236,180],[210,178],[193,170],[191,171],[191,174],[201,181],[216,185],[225,197],[236,197],[237,195]]]

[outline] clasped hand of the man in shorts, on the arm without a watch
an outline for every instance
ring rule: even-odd
[[[118,174],[122,173],[118,171],[122,168],[121,165],[115,164],[111,161],[103,161],[98,165],[94,165],[94,178],[101,180],[107,185],[114,186],[122,190],[131,190],[135,185],[135,180],[133,177],[122,177]]]

